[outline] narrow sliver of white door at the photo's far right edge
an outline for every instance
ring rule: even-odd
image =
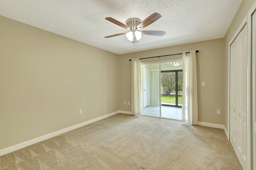
[[[256,169],[256,14],[252,15],[252,169]]]

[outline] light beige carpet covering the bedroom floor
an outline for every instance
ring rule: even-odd
[[[1,170],[242,170],[223,129],[117,114],[0,156]]]

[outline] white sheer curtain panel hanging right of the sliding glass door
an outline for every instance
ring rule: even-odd
[[[197,125],[197,80],[196,80],[196,51],[182,53],[183,61],[183,98],[182,121]]]

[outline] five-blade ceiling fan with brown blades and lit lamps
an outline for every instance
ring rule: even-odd
[[[126,34],[126,37],[128,40],[132,41],[132,43],[138,43],[138,40],[141,39],[142,34],[163,36],[166,33],[165,31],[150,31],[150,30],[140,31],[140,29],[143,29],[144,27],[150,25],[151,23],[153,23],[154,21],[158,20],[161,17],[162,16],[160,14],[155,12],[154,14],[150,15],[148,18],[146,18],[143,21],[141,21],[138,18],[130,18],[126,21],[126,25],[113,18],[110,18],[110,17],[105,18],[106,20],[129,30],[128,33],[118,33],[118,34],[106,36],[105,38],[116,37],[118,35]]]

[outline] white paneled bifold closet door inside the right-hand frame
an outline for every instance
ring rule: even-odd
[[[247,161],[247,25],[230,46],[230,142],[242,167]]]

